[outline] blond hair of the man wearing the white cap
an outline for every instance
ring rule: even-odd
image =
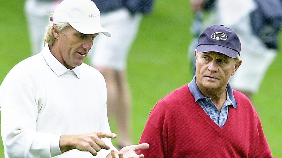
[[[53,13],[49,14],[49,17],[52,17]],[[66,29],[70,27],[69,23],[49,23],[46,27],[46,34],[44,36],[44,46],[48,43],[49,46],[52,46],[56,40],[55,36],[53,35],[53,28],[62,34],[65,34]]]

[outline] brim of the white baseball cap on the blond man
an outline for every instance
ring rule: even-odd
[[[103,28],[101,25],[95,24],[85,24],[85,23],[69,23],[75,30],[80,33],[91,35],[95,33],[102,32],[104,35],[111,37],[111,34],[108,30]]]

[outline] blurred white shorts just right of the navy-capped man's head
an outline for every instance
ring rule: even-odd
[[[229,80],[235,90],[257,92],[268,67],[276,57],[275,49],[266,45],[252,33],[250,18],[242,18],[233,26],[241,41],[241,66]]]

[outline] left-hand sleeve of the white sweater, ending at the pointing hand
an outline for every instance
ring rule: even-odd
[[[52,157],[61,153],[59,135],[36,132],[38,107],[31,87],[17,80],[0,86],[1,135],[8,157]]]

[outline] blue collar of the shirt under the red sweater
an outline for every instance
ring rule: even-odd
[[[204,95],[202,95],[199,87],[197,86],[196,75],[194,75],[192,81],[188,84],[188,87],[189,87],[190,92],[194,96],[195,102],[197,102],[199,99],[207,98]],[[227,94],[228,94],[228,96],[226,96],[226,99],[228,99],[228,97],[229,97],[229,99],[231,100],[231,102],[233,104],[233,107],[236,108],[237,103],[236,103],[236,100],[235,100],[234,95],[233,95],[233,89],[232,89],[232,87],[229,83],[227,84],[226,90],[227,90]]]

